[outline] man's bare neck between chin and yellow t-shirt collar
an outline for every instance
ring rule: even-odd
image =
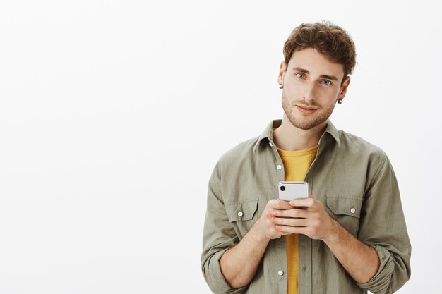
[[[292,125],[284,114],[280,127],[276,128],[273,132],[273,141],[275,145],[282,150],[294,151],[308,149],[318,145],[319,139],[321,139],[321,135],[324,133],[326,127],[327,121],[324,121],[314,128],[302,130]]]

